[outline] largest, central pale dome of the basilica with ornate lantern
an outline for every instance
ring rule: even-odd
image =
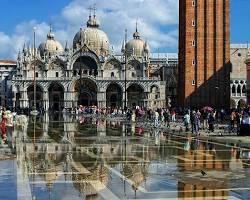
[[[86,45],[90,50],[97,55],[104,53],[108,54],[109,39],[105,32],[99,29],[100,22],[94,17],[89,16],[87,21],[87,28],[80,28],[73,40],[73,48],[77,49]]]

